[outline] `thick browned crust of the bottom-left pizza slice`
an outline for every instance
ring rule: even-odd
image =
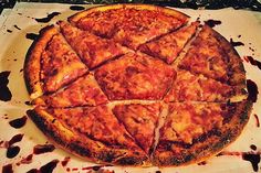
[[[73,129],[69,129],[40,107],[28,110],[27,113],[49,139],[87,161],[116,165],[150,165],[145,154],[128,149],[108,147],[88,139]]]

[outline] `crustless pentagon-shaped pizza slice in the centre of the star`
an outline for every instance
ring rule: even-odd
[[[94,76],[111,100],[161,99],[176,72],[160,60],[128,53],[97,68]]]

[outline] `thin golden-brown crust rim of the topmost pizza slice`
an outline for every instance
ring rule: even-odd
[[[157,7],[157,6],[152,6],[152,4],[127,4],[127,3],[122,3],[122,4],[111,4],[111,6],[98,6],[98,7],[94,7],[91,9],[87,9],[85,11],[79,12],[72,17],[70,17],[67,20],[71,23],[76,23],[79,20],[81,20],[82,18],[85,18],[87,14],[92,13],[92,12],[96,12],[96,11],[107,11],[107,10],[113,10],[113,9],[137,9],[137,10],[150,10],[150,11],[160,11],[164,12],[168,15],[175,17],[179,20],[185,20],[188,21],[188,19],[190,18],[189,15],[181,13],[179,11],[173,10],[173,9],[167,9],[167,8],[163,8],[163,7]]]

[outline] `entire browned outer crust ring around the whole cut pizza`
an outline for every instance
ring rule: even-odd
[[[104,7],[95,7],[83,12],[79,12],[69,18],[69,21],[76,23],[82,18],[94,11],[106,11],[111,9],[121,8],[135,8],[138,10],[158,10],[166,14],[173,15],[180,20],[188,20],[188,15],[166,8],[148,4],[113,4]],[[210,30],[212,30],[210,28]],[[41,68],[41,54],[45,48],[48,42],[52,39],[58,30],[54,25],[49,25],[40,31],[40,36],[30,46],[25,62],[24,62],[24,80],[32,99],[43,95],[40,68]],[[229,56],[230,67],[230,85],[236,87],[236,98],[232,101],[239,101],[247,97],[246,91],[246,71],[240,60],[239,54],[233,46],[218,32],[212,30],[213,36],[219,41],[221,47]],[[240,97],[239,97],[240,95]],[[218,132],[213,132],[211,136],[207,136],[205,139],[199,139],[199,142],[184,148],[176,143],[169,143],[169,147],[175,147],[177,150],[181,150],[181,154],[174,154],[171,150],[160,151],[160,153],[153,154],[153,163],[159,166],[178,166],[190,163],[196,163],[208,159],[219,153],[223,148],[233,142],[242,132],[242,129],[249,120],[252,102],[244,100],[238,102],[233,112],[232,119],[223,126],[222,129],[218,129]],[[55,141],[61,148],[69,150],[70,152],[80,155],[88,161],[96,163],[112,163],[118,165],[150,165],[147,156],[139,155],[135,151],[128,149],[115,149],[107,147],[104,143],[86,138],[85,136],[69,129],[65,125],[55,120],[52,115],[48,113],[44,109],[39,107],[28,111],[29,117],[34,123],[42,130],[42,132]],[[161,143],[159,143],[161,144]],[[165,143],[164,143],[165,144]]]

